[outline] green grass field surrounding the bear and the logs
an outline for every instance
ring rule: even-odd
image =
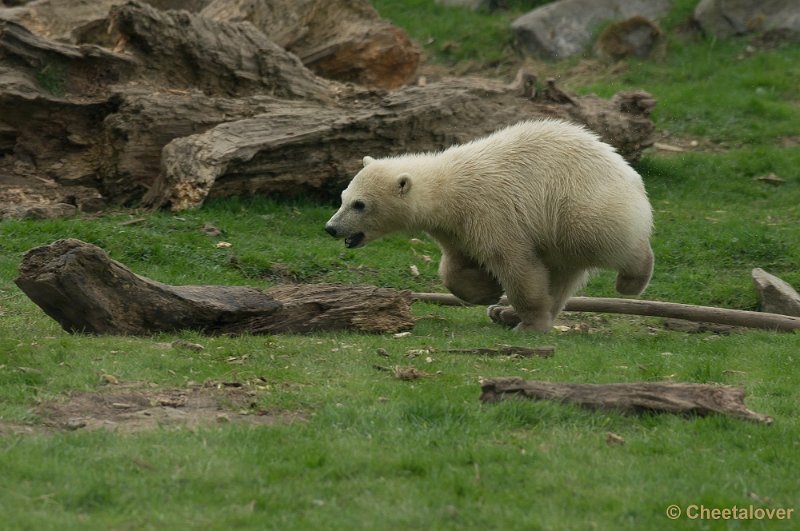
[[[693,3],[678,4],[668,30],[685,22]],[[376,5],[430,43],[430,60],[440,65],[473,61],[491,70],[520,62],[497,30],[514,12],[474,14],[432,0]],[[752,268],[800,287],[800,45],[669,33],[658,60],[542,68],[580,92],[650,91],[660,141],[686,147],[653,150],[637,166],[656,216],[647,298],[756,309]],[[440,49],[477,35],[485,40],[466,55],[452,56],[466,44]],[[783,183],[754,180],[769,173]],[[0,222],[0,528],[796,528],[798,514],[789,521],[673,521],[666,510],[800,511],[798,334],[687,334],[657,319],[568,314],[563,331],[516,335],[480,308],[415,304],[418,323],[402,338],[91,337],[63,332],[13,284],[26,250],[71,237],[170,284],[290,280],[443,290],[438,250],[424,234],[346,250],[323,231],[335,208],[254,198],[179,214]],[[125,224],[133,218],[144,221]],[[204,234],[205,223],[223,234]],[[231,246],[219,248],[219,241]],[[598,275],[584,294],[612,296],[613,275]],[[170,348],[176,339],[204,348]],[[507,344],[554,345],[555,356],[445,352]],[[375,365],[413,366],[429,376],[401,381]],[[736,385],[751,409],[775,422],[624,416],[544,402],[481,405],[478,381],[495,376]],[[61,422],[74,415],[68,406],[79,397],[135,391],[152,399],[205,389],[204,382],[221,393],[235,384],[247,400],[223,393],[222,409],[192,426],[65,429]],[[624,444],[609,444],[609,433]]]

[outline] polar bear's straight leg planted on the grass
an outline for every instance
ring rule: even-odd
[[[506,256],[494,264],[493,269],[519,317],[514,330],[549,332],[553,327],[553,298],[549,293],[549,272],[544,264],[530,257]]]

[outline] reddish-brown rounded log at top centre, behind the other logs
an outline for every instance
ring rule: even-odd
[[[419,64],[417,46],[368,0],[214,0],[200,14],[252,22],[329,79],[397,88],[413,79]]]

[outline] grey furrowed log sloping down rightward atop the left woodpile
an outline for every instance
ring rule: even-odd
[[[161,86],[206,94],[327,99],[330,87],[251,24],[129,2],[109,12],[115,50],[146,65]]]

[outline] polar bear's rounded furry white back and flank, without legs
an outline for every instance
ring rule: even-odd
[[[487,237],[487,227],[505,227],[494,237],[525,233],[577,258],[598,252],[597,244],[609,247],[608,239],[649,235],[652,212],[641,177],[581,126],[525,121],[440,157],[455,200],[449,209],[466,213],[458,218],[471,245]]]

